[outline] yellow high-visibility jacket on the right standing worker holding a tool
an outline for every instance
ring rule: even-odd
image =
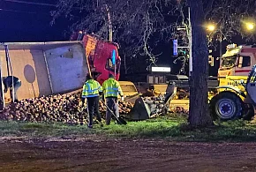
[[[102,84],[104,97],[117,97],[118,93],[123,96],[121,86],[115,79],[105,80]]]

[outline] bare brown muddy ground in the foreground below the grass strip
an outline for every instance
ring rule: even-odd
[[[0,150],[1,172],[256,171],[256,143],[7,137]]]

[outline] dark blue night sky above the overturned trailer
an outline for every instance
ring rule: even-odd
[[[70,21],[57,19],[54,26],[50,26],[52,17],[50,11],[55,7],[47,5],[22,4],[0,1],[0,41],[64,41],[64,36]],[[43,4],[56,4],[56,0],[20,0]]]

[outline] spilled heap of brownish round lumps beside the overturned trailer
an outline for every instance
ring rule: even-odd
[[[87,123],[87,108],[82,106],[80,95],[81,93],[57,94],[11,103],[0,112],[0,120],[27,121],[32,123]],[[143,100],[151,108],[152,115],[162,111],[164,102],[161,98],[144,97]],[[131,102],[119,101],[119,113],[125,116],[131,111],[133,106]],[[107,108],[102,101],[100,101],[99,109],[104,118]],[[171,112],[187,113],[183,108],[171,109]]]

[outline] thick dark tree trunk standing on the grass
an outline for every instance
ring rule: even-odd
[[[190,108],[188,122],[192,127],[213,125],[208,109],[208,47],[203,28],[202,0],[188,0],[192,24],[192,76],[190,78]]]

